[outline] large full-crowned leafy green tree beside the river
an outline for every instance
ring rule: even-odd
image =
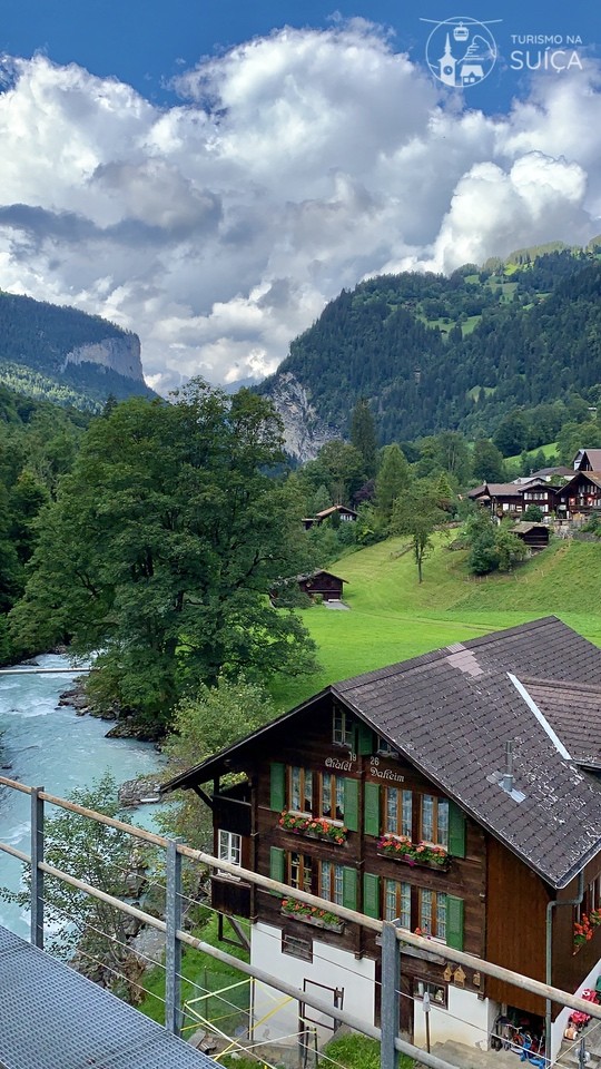
[[[13,627],[29,648],[68,636],[90,692],[168,720],[188,686],[313,667],[313,644],[267,594],[306,563],[285,489],[282,425],[248,391],[201,382],[174,404],[131,399],[96,420],[40,542]],[[305,549],[303,548],[305,547]]]

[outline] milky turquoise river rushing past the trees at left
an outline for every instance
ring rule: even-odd
[[[69,661],[49,654],[38,657],[37,664],[68,667]],[[76,716],[70,706],[59,707],[60,693],[70,686],[71,677],[63,674],[0,676],[0,766],[4,766],[0,775],[66,797],[76,787],[90,786],[107,768],[122,783],[159,766],[160,757],[150,743],[105,738],[110,724]],[[26,854],[30,853],[30,805],[28,794],[0,786],[0,842]],[[20,861],[0,852],[0,886],[18,890],[21,870]],[[0,901],[0,924],[29,938],[29,911],[20,906]]]

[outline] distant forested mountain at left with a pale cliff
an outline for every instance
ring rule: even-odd
[[[140,343],[98,315],[0,291],[0,382],[37,399],[99,410],[112,394],[154,395]]]

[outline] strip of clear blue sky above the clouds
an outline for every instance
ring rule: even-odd
[[[508,70],[511,51],[520,48],[513,36],[580,36],[582,50],[599,53],[601,13],[593,0],[3,0],[0,50],[26,57],[42,50],[57,63],[75,61],[91,73],[127,81],[151,100],[169,102],[169,85],[183,67],[274,29],[327,28],[336,17],[363,18],[391,29],[395,49],[423,62],[430,33],[425,20],[454,16],[491,23],[500,51],[496,71],[472,90],[469,101],[486,111],[504,110],[524,91],[525,78],[518,69]],[[535,63],[539,49],[530,50]]]

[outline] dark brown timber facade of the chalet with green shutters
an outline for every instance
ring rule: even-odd
[[[216,806],[215,849],[218,850],[220,828],[236,831],[245,826],[242,857],[257,872],[294,886],[299,885],[300,865],[304,890],[322,898],[333,898],[336,893],[334,883],[327,893],[322,873],[324,864],[336,866],[341,876],[339,904],[381,919],[402,916],[405,926],[412,931],[427,931],[422,905],[424,892],[434,905],[439,903],[439,896],[444,896],[444,935],[437,935],[436,931],[431,933],[432,954],[424,958],[407,950],[403,955],[403,982],[412,997],[417,981],[445,991],[450,983],[456,982],[455,967],[450,967],[445,959],[445,944],[544,981],[545,919],[546,904],[553,896],[551,889],[506,846],[465,816],[435,784],[391,753],[366,725],[348,718],[345,728],[351,732],[351,744],[334,743],[335,715],[336,703],[324,698],[304,716],[302,741],[293,736],[289,726],[286,730],[275,727],[268,747],[263,745],[260,749],[246,751],[244,766],[253,784],[250,825],[243,824],[236,805]],[[339,820],[332,820],[328,808],[326,820],[333,827],[347,828],[343,843],[280,826],[283,813],[309,812],[308,802],[302,803],[298,810],[298,800],[292,797],[292,769],[303,773],[302,790],[311,798],[314,817],[322,816],[324,810],[324,776],[336,778],[343,812]],[[328,791],[332,790],[329,782]],[[408,808],[406,816],[411,820],[414,843],[424,838],[424,798],[428,800],[428,806],[440,808],[441,803],[449,806],[447,827],[441,828],[439,836],[449,850],[447,866],[410,864],[378,849],[381,836],[392,826],[390,815],[395,804],[400,818],[396,832],[402,833],[403,796],[407,801],[408,795],[411,817]],[[339,931],[315,928],[306,920],[283,913],[282,901],[270,893],[249,889],[244,899],[245,892],[231,881],[228,900],[227,884],[228,881],[223,879],[214,881],[213,905],[216,909],[225,913],[243,913],[254,922],[263,921],[280,929],[286,943],[300,957],[306,954],[307,960],[312,958],[315,938],[346,950],[354,958],[366,955],[377,960],[380,957],[375,939],[358,926],[345,924]],[[394,910],[393,901],[396,903]],[[240,908],[244,902],[247,902],[247,910]],[[553,983],[570,990],[578,985],[584,958],[574,968],[571,910],[556,911],[553,921],[558,931]],[[595,935],[594,947],[590,949],[593,957],[600,954],[599,943],[601,935]],[[585,953],[588,958],[589,948]],[[544,1013],[541,1000],[497,981],[486,981],[477,972],[464,975],[461,985],[481,998],[486,996],[524,1012]],[[374,1010],[377,1017],[377,1007]]]

